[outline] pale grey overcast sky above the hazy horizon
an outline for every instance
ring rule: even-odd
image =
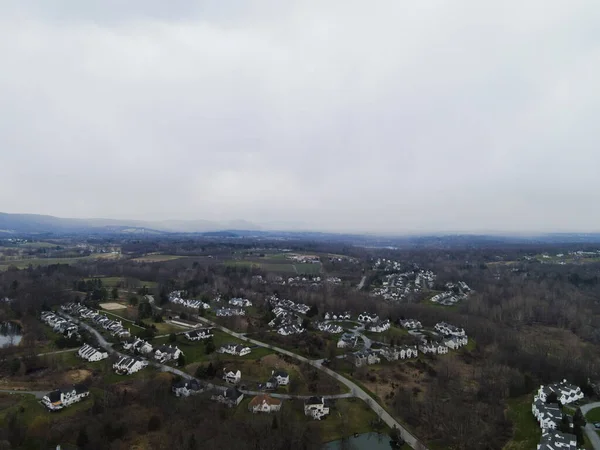
[[[600,230],[598,0],[0,2],[0,211]]]

